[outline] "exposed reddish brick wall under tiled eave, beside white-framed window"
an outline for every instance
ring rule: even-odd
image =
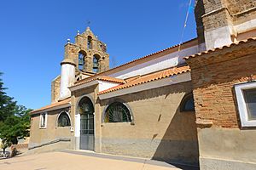
[[[256,41],[187,59],[197,122],[239,127],[234,84],[256,80]]]

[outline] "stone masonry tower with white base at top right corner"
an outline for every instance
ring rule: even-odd
[[[254,0],[198,0],[195,20],[199,42],[206,48],[218,48],[236,42],[239,34],[255,28]],[[251,21],[251,22],[248,22]],[[243,24],[244,26],[237,26]]]

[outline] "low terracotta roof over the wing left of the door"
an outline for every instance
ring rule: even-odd
[[[53,103],[53,104],[50,104],[50,105],[46,105],[46,106],[44,106],[44,107],[41,107],[40,109],[31,111],[30,113],[31,113],[31,114],[36,114],[36,113],[39,113],[39,112],[41,112],[41,111],[56,110],[56,109],[58,109],[58,108],[61,107],[61,106],[63,106],[63,107],[65,107],[66,105],[67,105],[67,106],[70,106],[70,101],[71,101],[71,99],[70,99],[70,98],[67,98],[67,99],[64,99],[64,100],[55,102],[55,103]]]

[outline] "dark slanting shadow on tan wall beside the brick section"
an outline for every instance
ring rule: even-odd
[[[152,159],[166,161],[183,169],[191,169],[191,167],[180,164],[199,167],[195,111],[180,112],[180,108],[177,108]]]

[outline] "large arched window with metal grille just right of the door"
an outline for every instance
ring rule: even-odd
[[[130,111],[124,104],[114,102],[108,105],[104,122],[131,122]]]

